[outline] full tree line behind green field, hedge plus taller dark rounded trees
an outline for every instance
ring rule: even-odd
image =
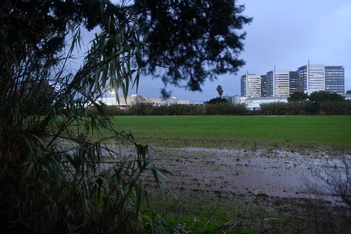
[[[293,93],[288,102],[261,103],[252,111],[247,103],[229,103],[227,99],[216,97],[203,105],[162,104],[155,105],[141,96],[131,103],[126,111],[118,106],[106,106],[110,115],[351,115],[351,100],[336,93],[325,91]],[[91,114],[100,114],[94,107]]]

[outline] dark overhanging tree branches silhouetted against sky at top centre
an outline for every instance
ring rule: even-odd
[[[148,72],[165,83],[201,90],[206,79],[236,73],[245,62],[238,58],[251,22],[241,13],[244,5],[233,0],[146,1],[136,0],[140,29],[151,42],[145,48]],[[146,21],[145,19],[150,19]],[[162,65],[165,70],[157,73]]]

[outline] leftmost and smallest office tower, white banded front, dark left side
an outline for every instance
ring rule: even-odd
[[[261,96],[261,74],[245,74],[240,79],[240,95],[245,97]]]

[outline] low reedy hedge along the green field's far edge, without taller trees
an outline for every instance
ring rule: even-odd
[[[158,105],[141,102],[129,109],[105,106],[107,115],[351,115],[351,100],[314,102],[262,103],[260,109],[250,111],[245,103],[217,103],[206,105]],[[99,115],[95,107],[88,109],[90,115]]]

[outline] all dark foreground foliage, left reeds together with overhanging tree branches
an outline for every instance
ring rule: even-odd
[[[141,207],[140,177],[151,171],[160,184],[169,172],[148,161],[148,146],[111,126],[97,99],[119,88],[126,98],[141,72],[156,75],[157,67],[165,83],[187,80],[192,90],[236,72],[245,36],[236,29],[251,20],[243,9],[225,0],[1,1],[2,233],[170,231]],[[81,51],[82,27],[101,31],[75,70],[70,63]],[[49,81],[60,91],[53,93]],[[100,115],[90,115],[88,103]],[[102,131],[113,133],[112,142],[130,142],[135,158],[122,158],[104,145],[107,139],[89,139]],[[108,155],[116,159],[105,169]]]

